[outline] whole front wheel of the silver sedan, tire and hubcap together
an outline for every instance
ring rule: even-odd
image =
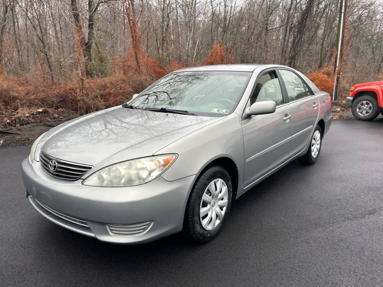
[[[182,233],[188,239],[203,243],[221,231],[232,200],[232,185],[222,166],[212,166],[198,178],[185,210]]]

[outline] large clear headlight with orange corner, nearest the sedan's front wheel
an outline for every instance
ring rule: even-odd
[[[147,183],[162,174],[177,158],[176,154],[137,158],[107,166],[86,178],[90,186],[133,186]]]

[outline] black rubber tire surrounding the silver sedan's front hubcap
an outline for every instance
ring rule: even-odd
[[[214,179],[223,179],[228,191],[228,204],[223,219],[213,230],[203,228],[200,220],[200,204],[205,189]],[[214,239],[221,231],[228,218],[232,201],[232,184],[228,172],[219,165],[211,166],[201,173],[195,186],[191,190],[183,219],[182,234],[189,240],[204,243]],[[209,220],[211,222],[211,219]],[[212,223],[213,224],[213,223]]]

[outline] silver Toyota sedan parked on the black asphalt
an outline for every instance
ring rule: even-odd
[[[296,158],[315,163],[331,119],[329,94],[292,68],[185,68],[36,139],[22,163],[26,197],[105,242],[209,241],[234,199]]]

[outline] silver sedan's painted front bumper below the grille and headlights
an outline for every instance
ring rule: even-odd
[[[53,178],[39,162],[31,164],[28,158],[21,170],[27,197],[44,217],[83,235],[121,244],[145,243],[181,231],[189,192],[197,176],[175,181],[160,176],[140,186],[102,188],[84,186],[82,179],[73,182]],[[142,222],[152,224],[141,235],[112,235],[107,228],[108,224]]]

